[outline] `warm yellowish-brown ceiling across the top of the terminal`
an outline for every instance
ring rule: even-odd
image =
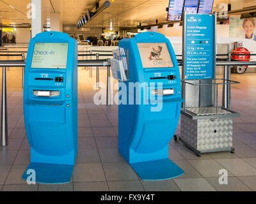
[[[51,13],[60,13],[63,25],[76,25],[86,9],[92,10],[99,0],[42,0],[44,24],[51,18]],[[101,5],[106,0],[100,0]],[[95,17],[86,27],[134,27],[138,24],[154,24],[166,20],[169,0],[109,0],[111,6]],[[27,5],[31,0],[0,0],[0,23],[31,23],[27,18]],[[214,10],[218,11],[220,3],[231,3],[234,8],[255,6],[256,0],[215,0]],[[11,8],[12,5],[15,9]]]

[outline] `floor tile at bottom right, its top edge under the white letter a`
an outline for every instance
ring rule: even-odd
[[[206,178],[206,180],[217,190],[217,191],[251,191],[246,185],[243,184],[236,177],[228,177],[228,184],[220,184],[219,178]]]

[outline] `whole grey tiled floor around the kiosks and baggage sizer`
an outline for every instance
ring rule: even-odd
[[[16,70],[16,71],[15,71]],[[22,115],[21,71],[8,75],[9,145],[0,150],[2,191],[256,191],[256,74],[232,75],[241,85],[232,87],[235,154],[216,152],[197,157],[180,142],[170,142],[169,157],[185,171],[182,177],[143,181],[118,154],[118,106],[93,104],[93,78],[79,69],[78,155],[70,184],[28,185],[21,179],[29,164],[29,143]],[[17,80],[18,79],[18,80]],[[100,70],[106,80],[106,70]],[[180,126],[177,134],[180,133]],[[228,171],[220,185],[219,170]]]

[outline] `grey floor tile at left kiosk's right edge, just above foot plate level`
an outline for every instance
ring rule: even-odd
[[[78,149],[77,163],[100,163],[100,156],[97,149]]]

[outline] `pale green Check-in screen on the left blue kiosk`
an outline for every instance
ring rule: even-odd
[[[35,43],[31,68],[66,69],[68,43]]]

